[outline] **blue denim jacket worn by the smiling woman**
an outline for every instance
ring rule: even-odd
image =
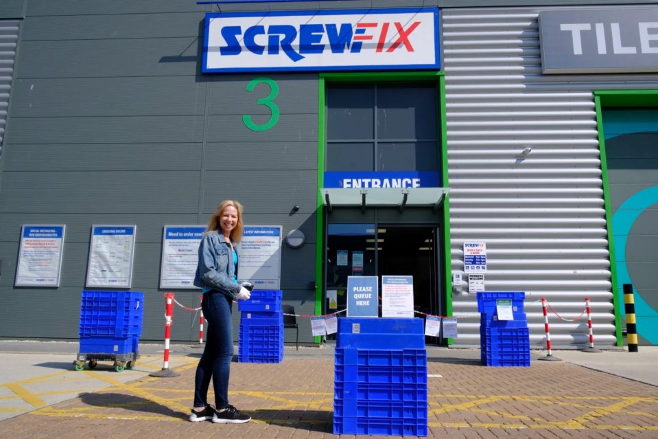
[[[237,251],[237,243],[233,242]],[[200,288],[218,289],[236,295],[240,284],[233,281],[234,273],[233,251],[223,234],[216,231],[206,232],[199,244],[199,263],[194,275],[194,286]],[[239,258],[238,258],[239,267]]]

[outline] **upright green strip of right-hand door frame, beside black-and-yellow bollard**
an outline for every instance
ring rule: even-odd
[[[601,179],[603,181],[603,201],[605,205],[606,227],[608,232],[608,254],[610,258],[610,278],[612,282],[612,303],[615,307],[615,335],[617,336],[617,346],[624,346],[622,339],[622,318],[620,314],[620,303],[617,300],[617,264],[615,264],[615,239],[612,231],[612,209],[610,207],[610,188],[608,184],[608,164],[605,155],[605,137],[603,133],[603,115],[601,98],[594,94],[594,105],[596,106],[596,126],[598,128],[598,148],[601,160]]]

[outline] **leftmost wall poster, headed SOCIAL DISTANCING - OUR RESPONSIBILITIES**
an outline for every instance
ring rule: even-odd
[[[15,286],[60,286],[64,225],[23,225]]]

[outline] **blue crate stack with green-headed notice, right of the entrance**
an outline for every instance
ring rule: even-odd
[[[530,366],[530,330],[524,313],[523,291],[486,291],[478,293],[480,311],[480,361],[500,367]],[[497,300],[512,304],[513,320],[498,319]]]

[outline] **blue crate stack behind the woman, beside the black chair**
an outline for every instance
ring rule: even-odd
[[[237,361],[281,363],[283,360],[283,312],[281,290],[254,290],[249,300],[237,302],[242,312]]]

